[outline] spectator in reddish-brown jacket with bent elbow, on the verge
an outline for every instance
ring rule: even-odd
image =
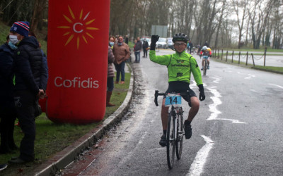
[[[120,84],[125,84],[125,61],[129,58],[131,53],[129,52],[129,46],[123,42],[123,37],[118,37],[118,42],[113,46],[114,54],[114,65],[116,69],[116,81],[115,84],[119,83],[120,74],[121,82]]]

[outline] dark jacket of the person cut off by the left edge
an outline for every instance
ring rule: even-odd
[[[0,112],[13,108],[13,50],[8,44],[0,46]]]

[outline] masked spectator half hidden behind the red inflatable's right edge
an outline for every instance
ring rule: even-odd
[[[115,106],[115,104],[110,103],[112,91],[114,89],[114,68],[112,63],[114,62],[114,55],[111,47],[114,45],[115,38],[109,37],[109,46],[108,46],[108,75],[107,75],[107,92],[106,92],[106,106]]]

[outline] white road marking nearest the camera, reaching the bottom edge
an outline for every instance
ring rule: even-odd
[[[202,135],[206,144],[202,146],[202,149],[197,152],[197,156],[195,156],[195,160],[190,165],[190,170],[187,173],[187,176],[198,176],[202,173],[204,168],[204,163],[207,161],[207,156],[209,151],[212,149],[214,142],[209,137]]]

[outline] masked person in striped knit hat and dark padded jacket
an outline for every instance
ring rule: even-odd
[[[18,46],[14,58],[15,106],[24,137],[21,141],[20,156],[11,158],[9,163],[26,163],[35,157],[35,113],[38,98],[44,96],[47,71],[42,64],[42,53],[35,37],[28,37],[29,23],[18,21],[10,30],[10,41]]]

